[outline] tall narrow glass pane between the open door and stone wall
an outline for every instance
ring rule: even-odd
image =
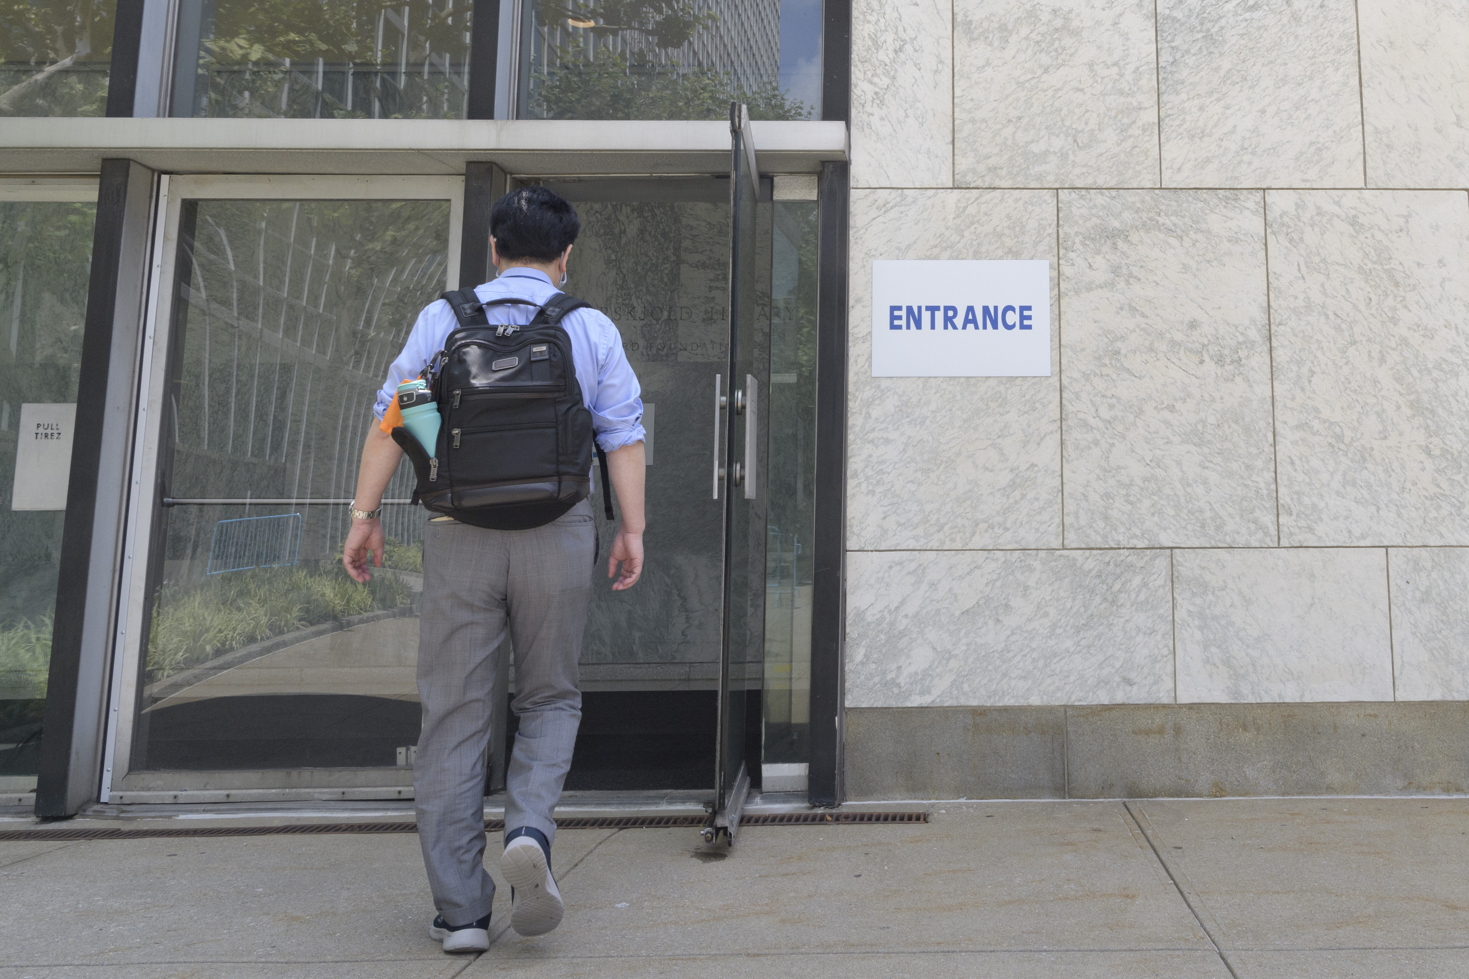
[[[817,402],[817,203],[776,201],[765,540],[765,791],[804,788],[809,762]]]

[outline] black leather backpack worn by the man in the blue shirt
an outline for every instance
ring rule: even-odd
[[[444,351],[423,370],[439,407],[438,448],[429,456],[404,427],[392,430],[419,477],[414,499],[476,527],[541,527],[592,493],[592,412],[561,317],[591,307],[563,292],[524,326],[491,324],[473,289],[445,292],[458,320]],[[602,502],[613,518],[607,456],[598,452]]]

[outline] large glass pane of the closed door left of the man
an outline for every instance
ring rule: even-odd
[[[448,201],[185,201],[132,769],[411,765],[423,511],[341,567],[372,404]],[[389,499],[413,492],[404,462]],[[254,501],[295,501],[288,503]]]

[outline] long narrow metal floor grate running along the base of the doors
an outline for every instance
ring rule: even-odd
[[[924,823],[925,812],[878,813],[878,812],[805,812],[749,815],[740,819],[745,826],[836,826],[852,823]],[[698,828],[704,816],[570,816],[555,820],[560,829],[668,829]],[[499,832],[505,828],[502,819],[486,819],[485,829]],[[323,834],[363,832],[417,832],[413,822],[310,822],[281,826],[150,826],[123,829],[115,826],[40,828],[0,832],[0,844],[38,842],[47,840],[167,840],[178,837],[294,837]]]

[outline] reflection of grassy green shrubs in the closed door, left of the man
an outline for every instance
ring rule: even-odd
[[[148,678],[162,680],[308,625],[407,605],[394,575],[357,584],[342,568],[256,568],[166,589],[153,609]]]

